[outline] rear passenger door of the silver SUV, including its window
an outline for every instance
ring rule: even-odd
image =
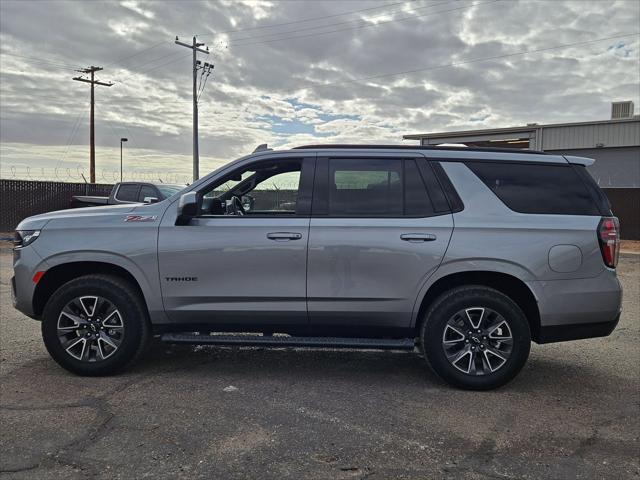
[[[312,329],[404,332],[452,230],[446,198],[423,156],[318,158],[307,275]]]

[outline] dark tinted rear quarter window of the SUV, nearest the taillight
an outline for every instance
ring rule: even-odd
[[[584,182],[570,165],[469,162],[467,166],[516,212],[600,214]]]

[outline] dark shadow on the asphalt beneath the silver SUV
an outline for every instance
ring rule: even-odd
[[[615,382],[600,365],[577,365],[571,360],[532,354],[520,374],[499,390],[535,395],[573,394],[598,390]],[[305,377],[354,383],[421,384],[442,388],[418,350],[376,351],[305,348],[218,347],[168,345],[154,342],[134,368],[144,372],[188,372],[190,375],[255,378]],[[619,380],[618,380],[619,381]]]

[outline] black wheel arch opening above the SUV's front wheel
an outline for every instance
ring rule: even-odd
[[[75,261],[55,265],[48,269],[38,281],[33,293],[33,312],[35,317],[42,317],[42,312],[44,311],[47,301],[58,288],[78,277],[91,274],[112,275],[125,280],[136,290],[136,293],[140,295],[140,298],[148,309],[147,300],[140,283],[126,268],[108,262]]]

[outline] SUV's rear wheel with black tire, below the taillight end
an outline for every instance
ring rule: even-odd
[[[420,328],[420,344],[432,370],[445,382],[490,390],[520,372],[531,349],[531,333],[513,300],[493,288],[467,285],[431,304]]]

